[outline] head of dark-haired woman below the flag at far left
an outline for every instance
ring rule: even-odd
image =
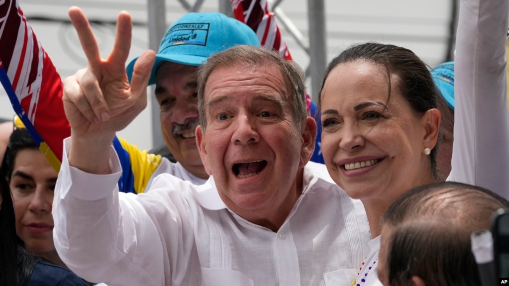
[[[12,192],[16,232],[25,248],[64,265],[53,244],[51,216],[58,173],[39,151],[27,129],[18,128],[12,132],[2,170]]]

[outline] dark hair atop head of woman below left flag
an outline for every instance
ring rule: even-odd
[[[12,131],[11,137],[9,137],[9,144],[5,151],[4,160],[2,161],[2,171],[9,180],[12,176],[16,156],[18,156],[20,151],[25,149],[38,150],[29,131],[25,128],[18,128]]]

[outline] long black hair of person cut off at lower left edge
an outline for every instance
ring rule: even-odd
[[[32,254],[16,235],[16,222],[7,178],[0,170],[0,285],[25,285],[35,266]]]

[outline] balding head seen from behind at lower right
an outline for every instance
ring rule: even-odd
[[[481,187],[441,182],[413,188],[382,218],[378,277],[384,285],[480,285],[470,234],[489,229],[509,202]]]

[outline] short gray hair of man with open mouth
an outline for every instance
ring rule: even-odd
[[[245,66],[256,68],[262,66],[275,66],[281,72],[286,90],[292,96],[294,122],[297,128],[301,128],[307,117],[307,104],[305,98],[304,71],[293,61],[282,59],[276,52],[271,52],[264,47],[238,45],[210,56],[207,62],[198,69],[198,110],[200,125],[205,130],[207,120],[205,117],[204,91],[207,80],[212,71],[219,67]]]

